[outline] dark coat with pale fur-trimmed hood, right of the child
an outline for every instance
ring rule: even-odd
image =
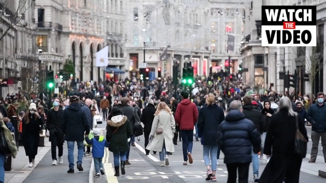
[[[111,152],[127,152],[129,149],[128,138],[130,138],[132,129],[127,116],[112,116],[107,120],[106,141],[110,142],[108,150]]]

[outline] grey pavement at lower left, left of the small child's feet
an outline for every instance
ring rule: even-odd
[[[69,169],[67,143],[63,145],[63,164],[52,165],[50,149],[51,142],[49,142],[49,138],[45,138],[45,146],[38,148],[34,167],[28,167],[29,162],[28,157],[25,155],[25,149],[23,146],[20,146],[17,157],[13,159],[13,169],[5,172],[5,182],[93,182],[92,156],[83,157],[83,171],[78,171],[75,164],[75,173],[67,173]],[[76,162],[77,146],[74,149],[74,157]]]

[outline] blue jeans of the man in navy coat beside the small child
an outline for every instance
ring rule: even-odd
[[[75,141],[67,141],[67,147],[68,147],[68,162],[69,162],[69,168],[73,168],[74,164],[74,157],[73,157],[73,150],[75,148]],[[84,154],[84,143],[83,141],[77,141],[77,149],[78,149],[78,155],[77,155],[77,164],[82,164],[82,158]]]

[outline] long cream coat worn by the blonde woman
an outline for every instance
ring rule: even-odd
[[[156,134],[156,128],[160,125],[163,128],[163,133]],[[152,139],[149,141],[146,149],[162,152],[163,142],[168,152],[174,152],[173,136],[175,132],[175,121],[173,114],[168,113],[166,110],[161,110],[159,115],[154,117],[152,130],[150,136]]]

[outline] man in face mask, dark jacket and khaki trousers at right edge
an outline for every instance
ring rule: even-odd
[[[311,127],[311,153],[308,162],[316,162],[318,155],[319,139],[321,137],[322,153],[326,162],[326,105],[324,102],[325,94],[317,93],[317,103],[312,104],[307,113],[307,120],[312,124]]]

